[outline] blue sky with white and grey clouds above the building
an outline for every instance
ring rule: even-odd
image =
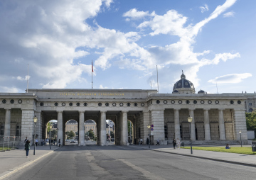
[[[255,0],[1,0],[0,92],[254,93]],[[29,65],[28,65],[29,64]]]

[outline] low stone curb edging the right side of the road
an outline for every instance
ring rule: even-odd
[[[142,149],[149,150],[144,147],[142,147]],[[164,152],[161,150],[150,150],[150,151]],[[226,162],[226,163],[230,163],[230,164],[238,164],[238,165],[243,165],[243,166],[247,166],[247,167],[256,167],[256,164],[249,164],[249,163],[245,163],[245,162],[233,162],[233,161],[228,161],[228,160],[223,160],[223,159],[213,159],[213,158],[209,158],[209,157],[198,157],[198,156],[193,156],[193,155],[189,155],[189,154],[178,154],[176,152],[164,152],[164,153],[176,154],[176,155],[185,156],[185,157],[194,157],[194,158],[198,158],[198,159],[208,159],[208,160],[215,161],[215,162]]]

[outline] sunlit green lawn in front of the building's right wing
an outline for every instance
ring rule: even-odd
[[[191,147],[181,147],[184,149],[190,149]],[[225,149],[225,147],[192,147],[193,150],[203,150],[203,151],[215,151],[215,152],[230,152],[237,154],[256,154],[252,152],[252,147],[231,147],[230,149]]]

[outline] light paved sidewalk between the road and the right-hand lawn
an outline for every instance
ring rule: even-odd
[[[210,145],[210,146],[214,146],[214,145]],[[218,146],[218,145],[215,145],[215,146]],[[178,149],[174,150],[174,147],[172,147],[171,145],[151,145],[150,149],[148,145],[142,145],[142,146],[132,145],[131,147],[142,148],[144,150],[153,150],[157,152],[178,154],[178,155],[187,156],[187,157],[210,159],[218,162],[229,162],[233,164],[256,167],[256,155],[253,155],[253,154],[235,154],[235,153],[228,153],[228,152],[213,152],[213,151],[203,151],[203,150],[193,150],[193,154],[191,154],[190,149],[181,148],[180,150]],[[244,145],[243,147],[251,147],[251,145]]]

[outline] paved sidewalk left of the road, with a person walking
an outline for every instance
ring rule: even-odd
[[[26,151],[24,147],[19,147],[18,150],[11,150],[6,152],[0,152],[0,179],[3,178],[6,174],[17,171],[18,169],[23,168],[32,164],[36,159],[41,159],[42,157],[50,154],[54,150],[58,149],[57,146],[38,146],[36,147],[36,153],[33,155],[33,146],[29,150],[28,158],[26,158]]]

